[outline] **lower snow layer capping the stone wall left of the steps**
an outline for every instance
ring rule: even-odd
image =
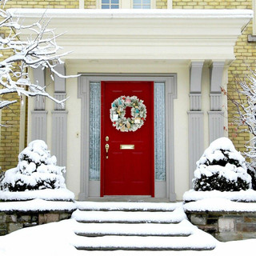
[[[45,211],[45,210],[75,210],[74,202],[54,202],[34,199],[25,202],[0,202],[0,211]]]

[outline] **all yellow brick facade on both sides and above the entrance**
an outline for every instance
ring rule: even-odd
[[[167,0],[156,0],[157,8],[167,8]],[[96,0],[85,0],[86,9],[96,8]],[[8,8],[79,8],[78,0],[57,1],[57,0],[10,0],[6,3]],[[252,9],[252,0],[173,0],[174,9]],[[237,98],[238,95],[232,90],[234,86],[234,75],[243,77],[248,73],[249,66],[255,69],[254,59],[256,56],[255,43],[247,42],[247,35],[252,34],[252,22],[243,31],[234,47],[236,60],[232,62],[229,69],[228,93]],[[8,53],[4,53],[8,54]],[[6,95],[4,98],[10,98],[12,95]],[[244,151],[244,142],[249,140],[249,134],[239,133],[236,127],[232,125],[236,109],[234,105],[228,102],[228,121],[229,137],[233,140],[237,150]],[[0,166],[2,170],[7,170],[17,165],[19,151],[19,120],[20,110],[19,102],[10,109],[2,110],[2,123],[7,123],[10,127],[1,128],[0,144]]]

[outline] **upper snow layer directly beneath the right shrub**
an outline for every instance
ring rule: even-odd
[[[183,194],[183,200],[186,202],[198,201],[206,198],[226,198],[232,201],[240,202],[256,202],[256,190],[240,190],[240,191],[195,191],[189,190]]]

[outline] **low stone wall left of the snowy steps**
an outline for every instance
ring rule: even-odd
[[[73,211],[0,211],[0,235],[10,234],[28,226],[58,222],[71,217]]]

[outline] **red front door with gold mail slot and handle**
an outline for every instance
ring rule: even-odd
[[[146,106],[146,119],[138,130],[113,126],[110,109],[121,96],[136,96]],[[125,118],[132,118],[130,110],[127,106]],[[154,197],[154,82],[102,82],[101,121],[101,196]]]

